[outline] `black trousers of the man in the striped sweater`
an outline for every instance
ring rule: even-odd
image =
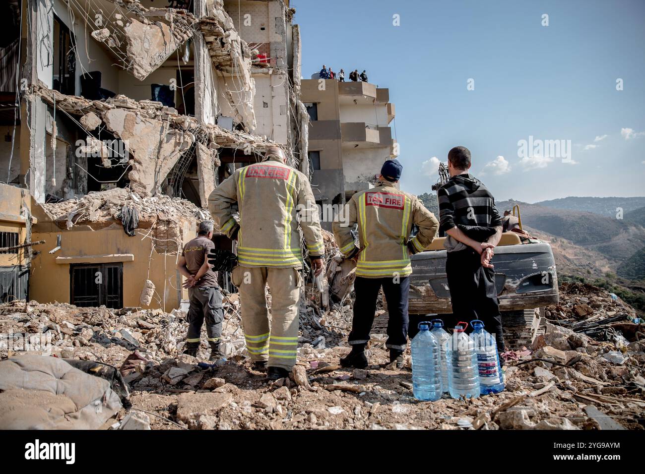
[[[453,321],[450,323],[466,321],[469,324],[466,332],[470,332],[470,321],[481,320],[486,331],[495,335],[497,350],[500,353],[504,351],[495,271],[492,268],[484,268],[479,254],[468,248],[459,252],[448,252],[446,274],[453,313]],[[446,321],[446,330],[450,328]]]

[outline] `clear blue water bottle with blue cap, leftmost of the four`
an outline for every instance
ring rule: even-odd
[[[415,399],[435,401],[441,398],[441,348],[430,332],[430,322],[419,322],[419,333],[410,343],[412,351],[412,393]]]

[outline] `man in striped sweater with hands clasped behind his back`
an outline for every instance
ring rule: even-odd
[[[437,190],[439,230],[446,233],[446,275],[452,311],[459,321],[481,319],[504,350],[495,273],[490,263],[502,236],[502,220],[495,199],[473,177],[470,150],[455,146],[448,152],[450,179]]]

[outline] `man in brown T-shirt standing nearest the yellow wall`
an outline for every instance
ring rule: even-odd
[[[199,224],[197,237],[184,245],[181,257],[177,262],[177,270],[186,277],[184,288],[188,288],[190,309],[188,310],[188,335],[186,335],[186,350],[184,354],[197,356],[201,326],[206,319],[206,334],[210,345],[210,360],[221,357],[219,342],[222,336],[222,321],[224,308],[222,293],[217,284],[217,273],[208,264],[208,252],[215,245],[213,237],[213,221]]]

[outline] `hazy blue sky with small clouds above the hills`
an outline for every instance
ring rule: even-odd
[[[461,144],[498,201],[645,195],[645,1],[291,5],[303,77],[325,63],[346,75],[366,69],[390,89],[404,190],[430,191],[436,163]],[[573,163],[539,150],[519,157],[530,135],[570,140]]]

